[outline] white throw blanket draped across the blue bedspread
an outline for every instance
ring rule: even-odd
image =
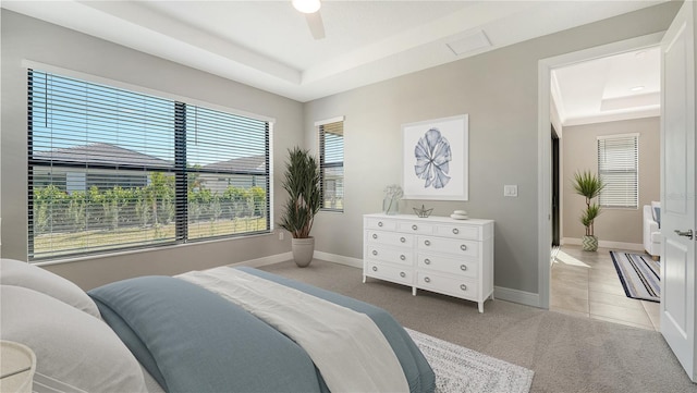
[[[223,296],[291,337],[334,393],[409,391],[390,344],[364,314],[228,267],[178,278]]]

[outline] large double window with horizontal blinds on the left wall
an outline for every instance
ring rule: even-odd
[[[270,231],[270,123],[28,72],[28,256]]]

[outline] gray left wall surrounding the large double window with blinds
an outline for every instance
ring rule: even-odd
[[[273,171],[283,172],[286,149],[303,145],[303,105],[160,58],[2,10],[2,257],[27,258],[26,70],[23,59],[167,94],[276,118]],[[277,175],[273,211],[284,194]],[[166,247],[47,267],[89,288],[143,275],[174,274],[290,251],[290,241],[260,235]]]

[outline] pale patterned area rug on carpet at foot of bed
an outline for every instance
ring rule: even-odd
[[[533,370],[406,329],[436,372],[437,393],[526,393]]]

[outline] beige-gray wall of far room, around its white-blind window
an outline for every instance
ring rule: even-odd
[[[621,242],[641,244],[644,205],[659,200],[660,184],[660,118],[646,118],[609,123],[586,124],[564,127],[562,157],[564,198],[562,214],[564,226],[562,236],[580,238],[585,226],[578,222],[580,211],[585,208],[584,197],[576,195],[571,185],[576,171],[598,171],[598,144],[600,135],[639,134],[639,208],[638,209],[603,209],[595,223],[596,236],[602,242]]]

